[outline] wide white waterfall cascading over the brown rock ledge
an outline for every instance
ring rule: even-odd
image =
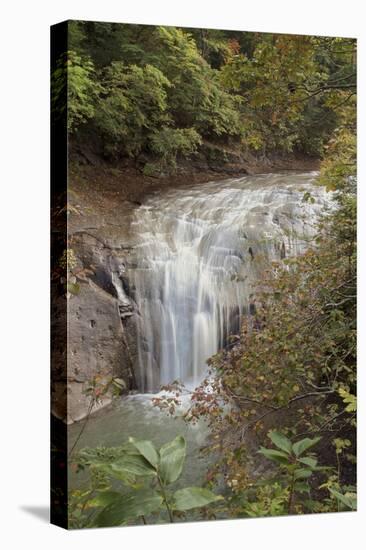
[[[150,196],[135,212],[129,280],[136,302],[140,390],[194,386],[238,333],[261,273],[303,252],[326,191],[315,173],[209,182]],[[304,201],[311,192],[312,201]]]

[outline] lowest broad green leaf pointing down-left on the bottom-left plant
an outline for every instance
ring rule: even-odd
[[[148,516],[160,508],[163,498],[156,491],[135,491],[120,495],[119,499],[106,506],[95,518],[96,527],[122,525],[127,520],[139,516]]]

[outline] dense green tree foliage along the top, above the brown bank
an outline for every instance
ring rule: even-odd
[[[68,26],[54,109],[65,108],[67,93],[74,137],[98,140],[107,156],[142,156],[147,173],[174,169],[177,156],[204,141],[239,153],[320,156],[339,106],[355,93],[352,39]]]

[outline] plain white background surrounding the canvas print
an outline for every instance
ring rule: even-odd
[[[366,121],[363,2],[348,0],[111,0],[2,3],[0,33],[1,178],[1,491],[4,548],[361,547],[365,445],[360,437],[359,512],[293,518],[65,532],[26,512],[48,504],[49,395],[49,26],[89,19],[241,30],[352,36],[359,39],[359,120]],[[360,281],[365,280],[365,125],[359,131]],[[362,185],[364,189],[362,189]],[[362,265],[361,265],[362,264]],[[364,289],[359,285],[360,306]],[[361,309],[361,308],[360,308]],[[365,327],[360,313],[360,434],[364,434]],[[363,339],[364,340],[364,339]],[[117,546],[118,545],[118,546]]]

